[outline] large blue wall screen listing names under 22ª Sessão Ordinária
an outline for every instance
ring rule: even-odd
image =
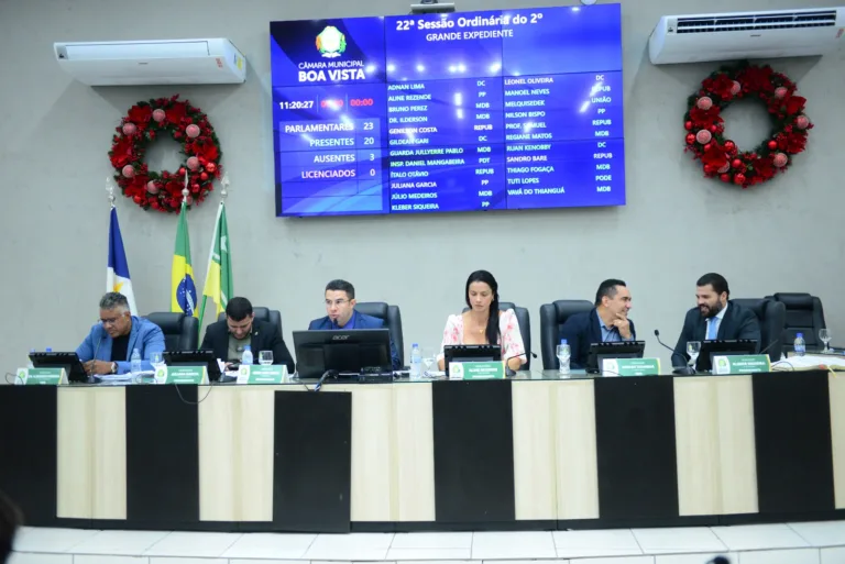
[[[623,206],[619,4],[270,24],[277,215]]]

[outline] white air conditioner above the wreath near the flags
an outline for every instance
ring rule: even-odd
[[[54,43],[58,65],[89,86],[219,85],[246,79],[246,59],[226,38]]]

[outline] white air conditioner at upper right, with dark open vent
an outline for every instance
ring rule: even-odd
[[[655,65],[802,57],[835,51],[845,8],[665,15],[648,40]]]

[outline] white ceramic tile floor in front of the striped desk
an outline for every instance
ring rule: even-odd
[[[845,564],[845,521],[555,532],[273,534],[23,529],[11,564]]]

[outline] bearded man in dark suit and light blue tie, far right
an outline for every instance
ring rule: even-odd
[[[674,345],[672,366],[685,366],[689,341],[714,341],[750,339],[757,341],[760,350],[760,322],[748,308],[734,303],[728,298],[731,289],[721,274],[705,274],[696,283],[698,306],[687,312],[681,336]]]

